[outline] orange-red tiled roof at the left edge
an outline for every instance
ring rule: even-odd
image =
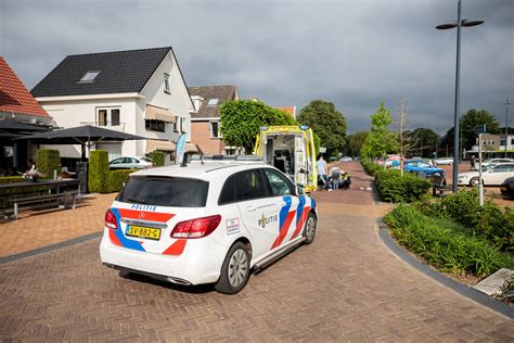
[[[0,112],[49,116],[2,56],[0,56]]]

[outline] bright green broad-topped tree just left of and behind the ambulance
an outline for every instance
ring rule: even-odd
[[[243,147],[250,152],[260,127],[298,125],[285,112],[272,109],[261,101],[228,101],[220,109],[220,131],[229,145]]]

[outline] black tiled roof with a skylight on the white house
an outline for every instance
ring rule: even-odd
[[[140,92],[170,47],[66,56],[36,87],[34,97]],[[79,82],[87,72],[100,72],[93,82]]]

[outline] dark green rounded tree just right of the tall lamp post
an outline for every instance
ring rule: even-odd
[[[467,111],[461,117],[462,125],[462,147],[466,150],[471,150],[473,145],[476,145],[476,138],[478,137],[475,134],[475,128],[480,125],[486,125],[487,134],[499,135],[500,134],[500,124],[497,118],[487,112],[486,110],[475,110],[472,109]]]

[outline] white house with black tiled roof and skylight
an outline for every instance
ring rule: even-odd
[[[195,109],[170,47],[66,56],[31,93],[56,127],[94,125],[147,138],[97,144],[110,160],[162,150],[169,164],[179,134],[191,140]],[[80,157],[78,145],[59,150],[64,157]],[[188,143],[187,151],[196,147]]]

